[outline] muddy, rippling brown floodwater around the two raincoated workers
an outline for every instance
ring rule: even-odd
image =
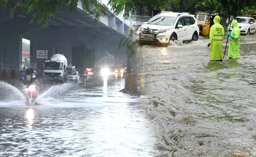
[[[241,36],[238,60],[228,59],[227,47],[223,62],[210,62],[207,44],[201,37],[138,49],[150,95],[144,104],[162,154],[256,157],[256,35]]]

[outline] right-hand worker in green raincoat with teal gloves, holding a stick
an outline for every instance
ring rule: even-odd
[[[237,26],[237,20],[232,21],[233,29],[229,36],[228,57],[237,59],[240,56],[240,28]]]

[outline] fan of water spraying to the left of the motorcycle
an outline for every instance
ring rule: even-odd
[[[6,82],[0,82],[0,99],[5,101],[27,101],[26,95],[18,88]],[[10,101],[11,100],[11,101]]]

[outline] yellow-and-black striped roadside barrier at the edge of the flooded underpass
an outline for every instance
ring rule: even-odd
[[[145,73],[129,73],[125,77],[125,89],[131,93],[143,95],[145,93]]]

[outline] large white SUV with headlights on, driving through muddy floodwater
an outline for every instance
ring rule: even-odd
[[[141,25],[136,35],[141,45],[160,43],[168,46],[170,40],[197,41],[199,27],[195,16],[190,13],[164,11]]]

